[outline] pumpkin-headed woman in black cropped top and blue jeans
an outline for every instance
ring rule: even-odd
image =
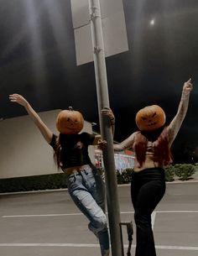
[[[80,133],[84,118],[81,112],[74,111],[72,108],[60,111],[58,114],[56,127],[60,134],[57,136],[50,131],[24,97],[12,94],[9,99],[26,109],[46,142],[54,149],[55,163],[67,175],[67,188],[72,200],[89,219],[88,227],[99,239],[102,256],[108,256],[109,236],[105,214],[104,184],[88,155],[89,145],[102,144],[101,136]],[[102,114],[110,118],[113,126],[115,121],[111,109],[102,109]]]

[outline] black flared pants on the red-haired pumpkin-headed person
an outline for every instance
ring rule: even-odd
[[[133,173],[131,196],[136,223],[135,256],[156,256],[151,214],[164,196],[165,179],[162,168]]]

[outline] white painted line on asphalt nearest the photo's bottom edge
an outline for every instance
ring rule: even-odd
[[[95,243],[0,243],[0,247],[81,247],[81,248],[99,248]],[[128,248],[128,244],[124,244],[124,248]],[[135,248],[135,245],[132,245]],[[196,246],[171,246],[171,245],[156,245],[158,249],[169,250],[187,250],[198,251]]]

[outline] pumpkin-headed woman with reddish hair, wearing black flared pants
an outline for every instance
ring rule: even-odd
[[[148,106],[136,114],[138,131],[132,133],[121,144],[114,144],[115,151],[133,149],[135,164],[131,182],[131,196],[136,223],[135,256],[156,256],[151,214],[164,196],[164,166],[171,163],[170,146],[185,118],[189,105],[191,79],[186,81],[175,118],[164,126],[164,110]]]

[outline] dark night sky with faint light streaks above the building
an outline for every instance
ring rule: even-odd
[[[115,139],[121,141],[133,133],[136,112],[150,104],[163,107],[169,123],[183,83],[191,77],[194,90],[175,145],[177,154],[186,147],[196,148],[198,1],[123,0],[123,5],[129,50],[107,58]],[[59,39],[50,15],[57,10]],[[69,0],[0,0],[0,32],[1,117],[26,114],[23,107],[8,102],[8,95],[18,92],[37,112],[73,106],[87,121],[98,123],[94,65],[76,66]]]

